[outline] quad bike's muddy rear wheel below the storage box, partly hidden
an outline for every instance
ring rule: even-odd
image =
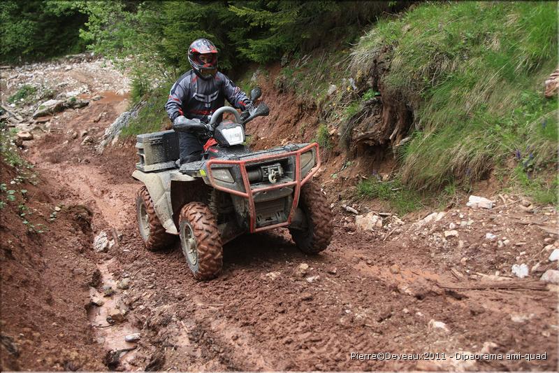
[[[157,218],[152,197],[150,192],[147,192],[145,185],[138,190],[136,195],[136,217],[140,236],[144,240],[147,250],[156,251],[165,248],[175,239],[173,234],[165,232],[165,228]]]

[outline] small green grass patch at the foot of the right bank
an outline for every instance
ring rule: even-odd
[[[377,198],[389,202],[391,209],[400,216],[423,207],[421,196],[406,188],[399,180],[362,180],[357,185],[357,192],[364,199]]]

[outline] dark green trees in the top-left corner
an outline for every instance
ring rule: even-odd
[[[78,1],[1,1],[0,61],[21,62],[81,52],[87,20]]]

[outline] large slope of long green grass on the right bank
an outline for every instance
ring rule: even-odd
[[[368,31],[352,71],[384,54],[384,96],[403,94],[419,123],[402,151],[402,182],[467,185],[518,151],[555,168],[558,102],[542,89],[556,69],[557,31],[556,3],[470,1],[419,4]]]

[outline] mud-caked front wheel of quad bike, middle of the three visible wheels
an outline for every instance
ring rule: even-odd
[[[197,280],[213,279],[223,267],[222,237],[210,208],[200,202],[185,204],[179,217],[180,246]]]

